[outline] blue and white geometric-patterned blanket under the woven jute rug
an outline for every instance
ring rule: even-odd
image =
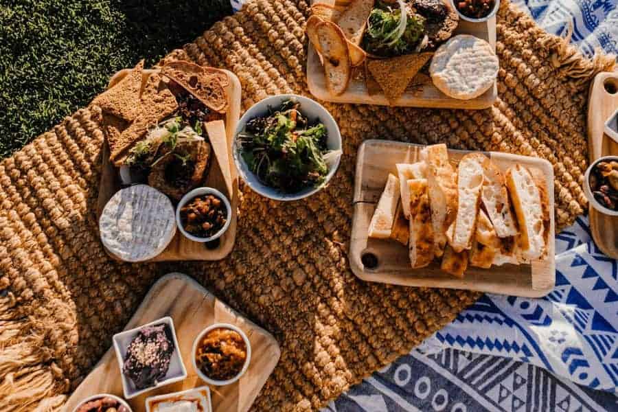
[[[514,3],[553,34],[571,22],[587,56],[618,54],[618,0]],[[547,297],[484,295],[325,411],[618,411],[618,263],[586,218],[556,236],[556,253]]]

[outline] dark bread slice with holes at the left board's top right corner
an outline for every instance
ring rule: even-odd
[[[191,62],[177,60],[161,67],[164,76],[174,80],[211,110],[225,113],[229,106],[225,86],[229,79],[225,73],[201,67]]]

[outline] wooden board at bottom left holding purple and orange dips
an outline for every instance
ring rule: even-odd
[[[218,322],[236,325],[247,334],[251,343],[251,362],[240,380],[223,387],[210,387],[212,409],[213,412],[247,411],[279,362],[281,351],[275,338],[181,273],[170,273],[161,277],[152,286],[124,330],[137,328],[139,325],[165,316],[174,320],[179,350],[188,376],[181,382],[148,391],[128,400],[133,412],[146,411],[145,401],[149,396],[206,385],[198,378],[193,368],[192,347],[194,340],[204,328]],[[123,398],[120,369],[113,347],[104,354],[73,392],[65,404],[65,411],[73,411],[84,398],[97,393],[111,393]]]

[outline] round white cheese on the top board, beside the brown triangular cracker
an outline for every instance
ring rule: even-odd
[[[489,43],[469,34],[459,34],[436,50],[429,73],[442,93],[469,100],[494,85],[498,69],[498,58]]]

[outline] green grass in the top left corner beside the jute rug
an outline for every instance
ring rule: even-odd
[[[0,158],[226,14],[229,0],[0,0]]]

